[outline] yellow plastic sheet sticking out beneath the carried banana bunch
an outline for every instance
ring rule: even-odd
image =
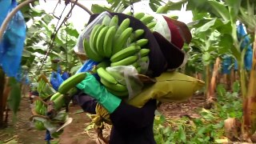
[[[130,99],[127,103],[132,106],[142,107],[150,99],[157,99],[160,102],[186,101],[195,91],[200,90],[205,83],[176,71],[162,73],[156,80],[156,83],[145,86],[140,94]]]

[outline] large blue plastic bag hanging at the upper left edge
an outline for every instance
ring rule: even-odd
[[[1,3],[1,25],[6,18],[6,6],[10,1],[0,1]],[[6,5],[5,5],[6,4]],[[17,6],[17,2],[12,0],[7,13],[10,13]],[[18,73],[22,58],[22,50],[26,38],[26,22],[22,13],[18,11],[9,22],[7,29],[0,42],[0,66],[9,77],[15,77]]]

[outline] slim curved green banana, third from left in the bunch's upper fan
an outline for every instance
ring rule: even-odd
[[[98,34],[98,38],[96,41],[96,48],[97,48],[98,54],[101,55],[102,57],[105,56],[103,44],[104,44],[104,39],[108,29],[109,29],[109,26],[105,26],[104,28],[102,28],[102,30]]]

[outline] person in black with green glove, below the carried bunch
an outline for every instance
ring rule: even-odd
[[[110,113],[113,125],[110,143],[155,143],[153,133],[156,100],[146,102],[142,108],[130,106],[122,99],[110,94],[90,73],[78,84],[82,90],[74,98],[83,110],[96,114],[98,103]]]

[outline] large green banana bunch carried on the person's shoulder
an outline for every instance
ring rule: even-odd
[[[134,14],[134,17],[149,28],[153,28],[156,24],[154,18],[149,14],[138,13]],[[119,26],[118,23],[120,23]],[[146,49],[149,41],[144,38],[144,34],[144,30],[134,30],[130,27],[130,18],[118,22],[118,16],[114,15],[112,18],[104,17],[101,23],[93,27],[89,40],[84,40],[87,56],[99,62],[97,66],[94,66],[93,71],[97,72],[102,85],[111,94],[122,98],[129,95],[126,83],[118,82],[119,77],[106,71],[106,68],[132,65],[140,73],[141,62],[147,62],[146,58],[150,53],[150,50]],[[63,94],[60,90],[58,92]]]

